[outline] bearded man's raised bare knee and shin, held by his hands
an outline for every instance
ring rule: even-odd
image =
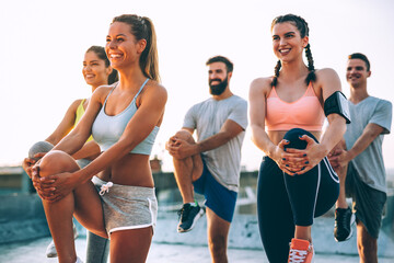
[[[176,137],[186,140],[189,144],[196,144],[190,133],[186,130],[179,130],[175,135]],[[193,182],[196,181],[202,173],[202,160],[199,155],[188,157],[185,159],[175,159],[174,162],[174,175],[176,184],[181,191],[183,203],[193,203]]]

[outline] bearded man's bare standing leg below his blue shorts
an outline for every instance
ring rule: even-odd
[[[208,245],[212,262],[227,263],[227,245],[230,222],[220,218],[207,207]]]

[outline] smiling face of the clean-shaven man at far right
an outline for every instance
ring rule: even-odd
[[[346,67],[346,80],[352,88],[359,88],[367,83],[371,71],[367,71],[367,65],[362,59],[349,59]]]

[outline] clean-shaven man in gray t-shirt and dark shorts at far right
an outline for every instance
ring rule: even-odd
[[[348,240],[356,219],[360,262],[369,263],[378,262],[378,236],[386,201],[382,142],[392,123],[391,102],[370,96],[367,91],[370,76],[368,58],[360,53],[351,54],[346,71],[351,124],[347,125],[345,141],[329,159],[340,183],[334,237],[338,242]],[[346,196],[352,198],[354,213]]]

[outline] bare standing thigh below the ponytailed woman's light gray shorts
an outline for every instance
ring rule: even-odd
[[[143,263],[153,236],[152,227],[119,230],[111,233],[111,263]]]

